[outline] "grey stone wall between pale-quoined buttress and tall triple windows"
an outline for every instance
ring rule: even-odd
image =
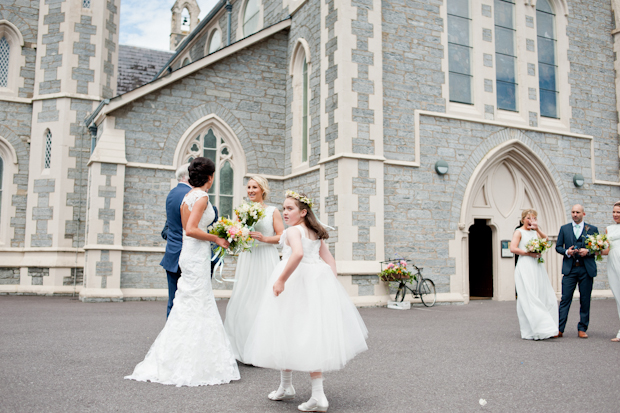
[[[441,0],[387,0],[383,13],[383,150],[415,161],[415,109],[445,112]]]

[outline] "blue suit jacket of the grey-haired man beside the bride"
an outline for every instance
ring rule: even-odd
[[[159,265],[166,271],[177,272],[179,269],[179,255],[183,247],[183,223],[181,222],[181,203],[185,195],[191,191],[189,185],[179,183],[166,198],[166,253]],[[164,228],[164,231],[166,228]],[[162,237],[164,236],[162,231]]]

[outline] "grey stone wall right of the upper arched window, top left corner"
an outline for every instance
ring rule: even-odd
[[[0,20],[13,23],[24,38],[21,54],[26,58],[26,64],[19,71],[20,77],[24,80],[24,85],[18,90],[18,96],[21,98],[31,98],[34,92],[36,67],[36,49],[34,47],[37,44],[39,28],[39,3],[39,1],[7,1],[0,4]]]

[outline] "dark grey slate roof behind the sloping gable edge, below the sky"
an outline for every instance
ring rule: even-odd
[[[120,45],[116,94],[122,95],[153,80],[173,54],[174,52]]]

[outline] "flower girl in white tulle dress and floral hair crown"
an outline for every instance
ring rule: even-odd
[[[284,201],[282,261],[276,266],[250,330],[244,360],[280,370],[280,387],[269,399],[295,396],[292,370],[310,373],[312,397],[302,412],[325,412],[322,372],[341,369],[368,349],[368,330],[336,278],[336,261],[325,240],[328,233],[312,212],[312,201],[288,191]]]

